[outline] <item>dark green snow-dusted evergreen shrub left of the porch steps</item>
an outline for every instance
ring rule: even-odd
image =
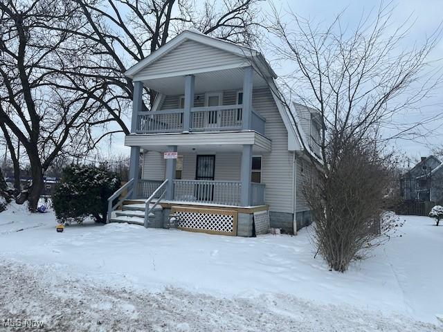
[[[53,208],[62,223],[93,216],[105,223],[107,199],[120,187],[120,178],[105,166],[71,165],[63,169],[53,194]]]

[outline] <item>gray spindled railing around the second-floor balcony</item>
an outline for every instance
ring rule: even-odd
[[[265,119],[255,111],[251,114],[251,129],[264,134]],[[140,112],[136,133],[180,133],[183,131],[183,109]],[[193,107],[190,131],[232,131],[242,129],[243,105]]]

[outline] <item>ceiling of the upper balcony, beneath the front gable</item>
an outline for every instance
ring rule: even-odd
[[[196,73],[195,93],[207,91],[237,90],[243,88],[244,68],[230,68],[222,71]],[[163,77],[143,81],[145,86],[166,95],[181,95],[185,91],[185,76]],[[255,74],[254,87],[266,86],[265,80]]]

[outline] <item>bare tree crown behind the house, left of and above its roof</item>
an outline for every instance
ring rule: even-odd
[[[129,115],[134,86],[123,73],[154,52],[185,28],[197,28],[230,42],[242,43],[257,37],[260,27],[259,0],[213,0],[199,4],[191,0],[70,0],[79,11],[80,28],[51,27],[70,33],[88,45],[88,64],[65,71],[66,75],[95,77],[109,89],[105,95],[92,95],[77,86],[109,113],[121,132],[128,134],[125,117]],[[42,21],[41,26],[46,27]],[[149,109],[156,92],[147,90],[144,107]]]

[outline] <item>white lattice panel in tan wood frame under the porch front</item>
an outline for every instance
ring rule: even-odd
[[[237,235],[237,211],[172,207],[171,213],[179,216],[181,230]]]

